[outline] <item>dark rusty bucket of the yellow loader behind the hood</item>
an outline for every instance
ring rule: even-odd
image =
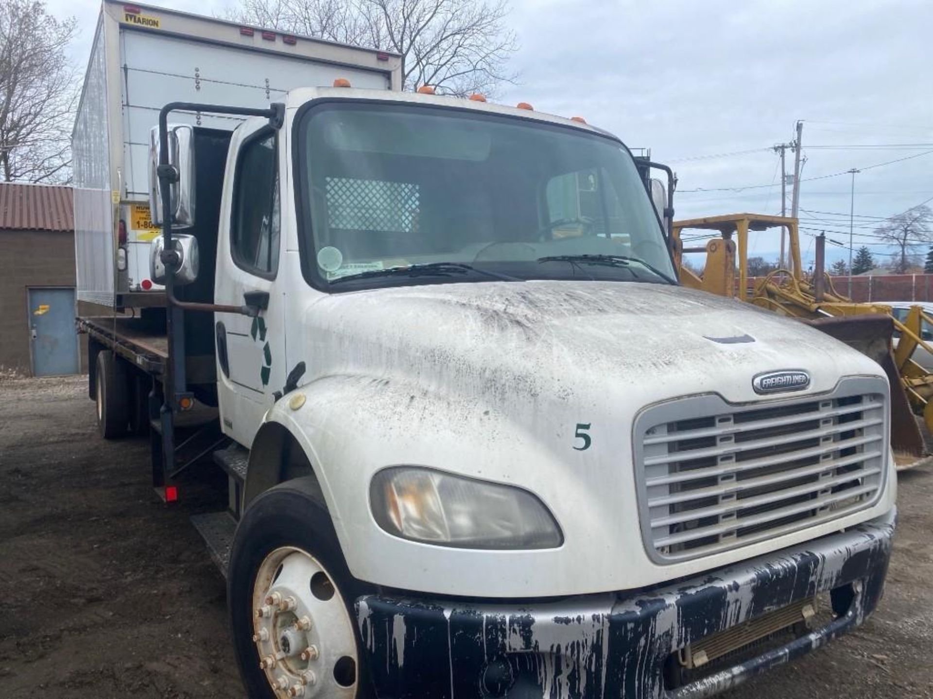
[[[898,466],[908,466],[926,457],[926,443],[904,392],[898,366],[891,353],[894,321],[890,316],[870,314],[803,321],[881,364],[891,384],[891,448]]]

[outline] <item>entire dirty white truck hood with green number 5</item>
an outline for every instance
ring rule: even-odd
[[[433,284],[320,295],[289,331],[307,403],[280,401],[320,465],[347,562],[362,580],[468,596],[632,589],[729,565],[851,526],[876,506],[689,561],[659,565],[642,540],[634,422],[651,404],[700,393],[772,400],[752,377],[802,369],[802,397],[843,376],[883,377],[864,355],[749,304],[648,283]],[[295,341],[291,339],[295,337]],[[780,400],[788,394],[775,394]],[[579,449],[585,426],[592,445]],[[564,532],[560,548],[475,551],[404,541],[369,512],[369,483],[410,464],[523,487]],[[415,572],[416,571],[416,572]]]

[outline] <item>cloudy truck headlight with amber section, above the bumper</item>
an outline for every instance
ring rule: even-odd
[[[407,466],[383,469],[369,486],[372,514],[390,534],[469,549],[550,549],[564,542],[527,490]]]

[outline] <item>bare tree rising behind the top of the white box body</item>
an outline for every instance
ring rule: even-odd
[[[405,89],[494,94],[513,82],[508,0],[240,0],[230,19],[403,57]]]

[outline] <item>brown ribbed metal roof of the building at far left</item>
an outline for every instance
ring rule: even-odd
[[[70,186],[0,183],[0,230],[75,229]]]

